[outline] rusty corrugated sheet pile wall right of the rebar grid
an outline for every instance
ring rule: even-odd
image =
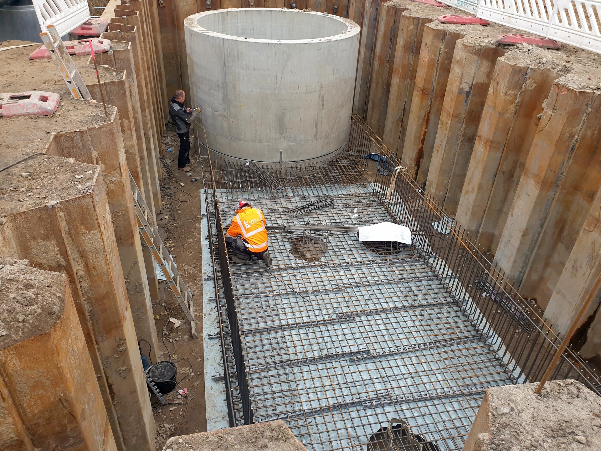
[[[354,111],[564,333],[601,275],[601,60],[442,14],[365,2]],[[600,298],[574,345],[601,360]]]

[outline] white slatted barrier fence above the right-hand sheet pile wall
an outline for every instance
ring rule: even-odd
[[[601,53],[601,0],[439,0],[490,22]]]

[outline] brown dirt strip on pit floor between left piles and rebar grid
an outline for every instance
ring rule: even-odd
[[[191,132],[191,137],[193,135],[194,131]],[[157,428],[156,450],[161,450],[169,437],[206,431],[207,414],[210,415],[210,413],[206,413],[204,406],[203,268],[201,266],[200,229],[202,182],[192,183],[190,181],[192,177],[201,176],[200,162],[198,156],[194,155],[194,142],[194,138],[192,138],[190,156],[196,162],[191,165],[190,173],[177,170],[176,160],[179,149],[177,135],[167,131],[162,142],[163,159],[171,169],[173,177],[165,177],[161,180],[163,206],[162,211],[157,214],[157,225],[165,247],[174,256],[177,269],[182,274],[186,286],[194,292],[194,318],[198,339],[192,339],[190,336],[190,323],[171,290],[165,283],[160,283],[159,299],[153,301],[154,318],[159,343],[162,346],[160,352],[167,354],[163,354],[159,358],[160,360],[169,360],[169,355],[171,356],[171,360],[175,361],[178,367],[177,381],[180,387],[177,387],[177,390],[187,388],[190,394],[188,399],[185,399],[174,391],[166,399],[168,402],[177,402],[178,405],[153,409]],[[167,152],[169,148],[172,149],[172,152]],[[182,325],[175,328],[174,324],[169,322],[170,317],[178,319]],[[142,349],[147,354],[147,345],[143,344]],[[153,400],[155,401],[153,405],[157,405],[156,399],[153,398]]]

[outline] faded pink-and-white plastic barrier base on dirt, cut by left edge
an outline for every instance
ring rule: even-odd
[[[58,94],[44,91],[0,94],[0,117],[51,116],[60,101]]]

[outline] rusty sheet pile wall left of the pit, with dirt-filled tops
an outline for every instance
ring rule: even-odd
[[[157,360],[157,279],[129,173],[159,212],[168,99],[156,10],[113,6],[100,85],[88,57],[74,57],[92,102],[70,97],[52,60],[29,61],[32,48],[0,53],[8,90],[61,97],[52,116],[1,124],[3,450],[154,451],[138,340]]]

